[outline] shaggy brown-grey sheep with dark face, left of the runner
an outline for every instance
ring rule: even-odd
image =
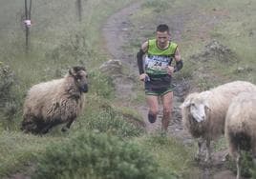
[[[87,72],[74,67],[61,79],[32,86],[24,103],[22,128],[32,133],[46,133],[54,126],[67,123],[69,129],[84,106],[88,91]]]

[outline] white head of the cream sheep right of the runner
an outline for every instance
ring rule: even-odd
[[[181,109],[187,109],[197,122],[206,120],[206,110],[210,109],[208,104],[209,91],[189,94],[181,104]]]

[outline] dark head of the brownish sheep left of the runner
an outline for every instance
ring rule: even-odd
[[[75,79],[75,84],[82,92],[88,92],[87,72],[84,67],[74,67],[69,70],[70,75]]]

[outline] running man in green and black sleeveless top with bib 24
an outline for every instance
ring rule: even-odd
[[[144,42],[137,53],[139,80],[145,84],[149,106],[148,120],[150,123],[156,122],[160,98],[163,105],[161,129],[164,132],[168,129],[173,108],[172,75],[183,67],[178,45],[170,37],[169,27],[160,24],[156,38]],[[171,66],[173,59],[176,62],[175,67]]]

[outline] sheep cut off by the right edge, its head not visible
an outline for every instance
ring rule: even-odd
[[[232,100],[226,112],[224,134],[229,153],[236,159],[239,179],[241,150],[252,150],[253,157],[256,157],[256,91],[240,93]]]

